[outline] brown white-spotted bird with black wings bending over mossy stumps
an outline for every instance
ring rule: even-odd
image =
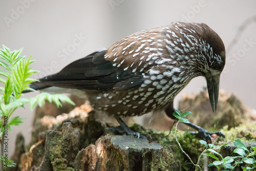
[[[33,82],[31,88],[87,98],[95,111],[114,116],[126,134],[139,137],[120,117],[165,111],[174,118],[175,96],[198,76],[206,79],[215,112],[224,66],[225,46],[214,30],[204,23],[174,22],[126,36]],[[212,134],[225,137],[186,124],[202,139],[210,140]]]

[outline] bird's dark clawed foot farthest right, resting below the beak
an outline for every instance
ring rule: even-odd
[[[225,135],[222,132],[217,131],[217,132],[211,133],[205,130],[203,127],[199,128],[198,133],[195,133],[195,132],[189,132],[189,133],[194,134],[197,138],[200,138],[206,141],[207,143],[212,143],[216,135],[225,138]]]

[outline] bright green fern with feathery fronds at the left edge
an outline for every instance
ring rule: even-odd
[[[24,104],[29,103],[32,110],[36,104],[42,106],[45,100],[54,102],[58,107],[62,106],[61,101],[68,102],[73,105],[74,102],[69,97],[62,94],[48,94],[42,93],[32,98],[20,98],[23,95],[23,91],[35,91],[30,88],[29,84],[38,81],[30,78],[33,73],[38,71],[31,70],[30,64],[35,60],[25,58],[25,56],[19,56],[22,49],[10,51],[3,45],[3,49],[0,49],[0,82],[4,83],[4,87],[0,87],[0,117],[8,116],[8,129],[12,130],[11,125],[19,125],[24,118],[19,116],[11,118],[12,113],[19,107],[24,107]],[[2,59],[2,60],[1,60]],[[1,68],[2,67],[2,68]],[[4,126],[0,119],[0,137],[4,136]],[[2,141],[1,146],[3,145]],[[1,152],[1,155],[4,153]],[[1,160],[1,159],[0,159]],[[10,161],[10,162],[9,162]],[[3,160],[2,167],[3,170]],[[11,160],[8,159],[8,166],[12,166]]]

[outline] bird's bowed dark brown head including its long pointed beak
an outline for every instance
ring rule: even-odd
[[[225,66],[225,47],[214,30],[205,24],[201,26],[202,44],[198,54],[200,61],[198,70],[206,78],[211,108],[215,112],[219,96],[220,74]]]

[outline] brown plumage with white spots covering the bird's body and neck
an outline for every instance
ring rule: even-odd
[[[191,79],[201,72],[209,72],[215,62],[223,64],[223,57],[216,54],[211,42],[204,38],[205,29],[208,26],[204,24],[173,23],[137,32],[116,42],[104,58],[112,61],[118,70],[135,75],[142,73],[143,81],[129,90],[97,94],[96,108],[109,113],[117,111],[117,115],[123,116],[163,109]]]

